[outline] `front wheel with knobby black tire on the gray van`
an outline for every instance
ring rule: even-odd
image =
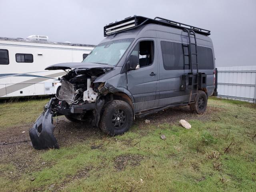
[[[122,100],[113,100],[104,106],[99,127],[108,135],[120,135],[129,130],[132,120],[130,105]]]

